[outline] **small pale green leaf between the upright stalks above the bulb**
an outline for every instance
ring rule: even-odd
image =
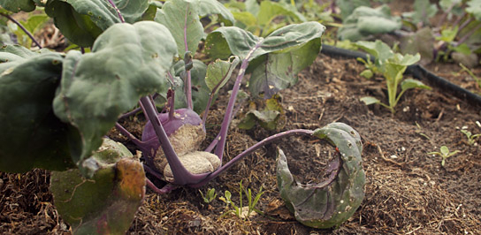
[[[218,59],[207,66],[205,83],[211,92],[217,94],[219,89],[225,86],[239,61],[239,57],[231,57],[226,61]]]

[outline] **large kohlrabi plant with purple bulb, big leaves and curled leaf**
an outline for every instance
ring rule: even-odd
[[[279,190],[299,221],[337,226],[363,201],[362,144],[348,125],[277,133],[223,162],[245,74],[250,73],[253,96],[270,98],[293,86],[319,53],[325,29],[320,23],[287,25],[260,37],[233,27],[231,11],[214,0],[0,0],[0,5],[14,12],[45,7],[62,34],[80,46],[67,53],[18,45],[0,49],[0,132],[8,133],[0,135],[0,171],[58,171],[50,189],[73,232],[125,232],[146,185],[156,193],[204,186],[256,149],[292,135],[324,139],[339,149],[330,178],[316,186],[294,184],[279,155]],[[200,19],[212,15],[221,23],[207,34]],[[212,60],[208,65],[193,58],[201,41]],[[220,131],[199,149],[210,104],[235,68]],[[204,110],[202,117],[197,109]],[[140,140],[118,123],[139,110],[148,121]],[[104,137],[112,127],[137,146],[141,162]],[[166,184],[157,187],[144,171]]]

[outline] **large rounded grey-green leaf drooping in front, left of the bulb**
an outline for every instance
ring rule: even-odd
[[[73,126],[70,148],[84,176],[96,171],[84,160],[100,147],[118,116],[134,108],[141,96],[166,92],[164,72],[176,53],[166,27],[141,21],[110,27],[91,53],[66,54],[53,107],[57,117]]]

